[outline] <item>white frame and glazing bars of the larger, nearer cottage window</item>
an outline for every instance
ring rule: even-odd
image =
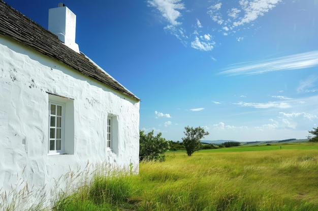
[[[54,106],[54,109],[55,109],[54,112],[51,111],[52,105]],[[57,113],[58,107],[61,108],[60,115]],[[54,125],[52,125],[52,119],[54,119],[53,121]],[[58,119],[60,119],[59,123],[58,123]],[[65,104],[49,101],[49,154],[64,154],[64,142],[65,142],[65,136],[64,136],[65,121],[64,120],[65,120]],[[58,133],[58,131],[60,132]],[[51,149],[51,142],[54,142],[53,149]]]

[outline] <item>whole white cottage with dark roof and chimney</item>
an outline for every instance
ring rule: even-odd
[[[138,173],[140,100],[79,51],[75,26],[62,4],[49,31],[0,0],[2,191],[18,175],[42,187],[87,161]]]

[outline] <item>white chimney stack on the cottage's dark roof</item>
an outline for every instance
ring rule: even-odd
[[[59,3],[57,8],[49,9],[49,31],[56,34],[67,47],[80,53],[75,43],[76,15],[64,4]]]

